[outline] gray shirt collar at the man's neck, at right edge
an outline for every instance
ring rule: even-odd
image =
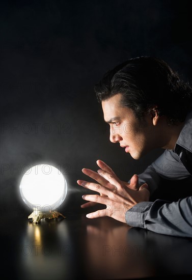
[[[186,116],[184,126],[179,134],[175,147],[177,145],[192,152],[192,110]]]

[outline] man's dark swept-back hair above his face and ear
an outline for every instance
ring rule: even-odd
[[[94,90],[99,102],[121,93],[121,105],[131,108],[140,120],[155,106],[171,125],[185,120],[192,101],[189,83],[166,62],[152,57],[119,64],[106,72]]]

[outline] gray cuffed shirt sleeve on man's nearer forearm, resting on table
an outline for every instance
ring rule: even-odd
[[[129,226],[180,237],[192,237],[192,197],[177,202],[140,202],[130,208],[125,219]]]

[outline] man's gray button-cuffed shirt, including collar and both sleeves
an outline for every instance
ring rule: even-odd
[[[139,185],[147,183],[152,194],[160,178],[181,180],[192,176],[192,111],[187,115],[174,150],[165,150],[139,174]],[[192,186],[191,186],[192,187]],[[192,196],[176,202],[141,202],[125,213],[129,226],[181,237],[192,237]]]

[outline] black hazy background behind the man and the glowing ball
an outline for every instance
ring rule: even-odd
[[[190,81],[189,4],[1,1],[1,204],[20,203],[20,179],[35,164],[58,166],[80,196],[81,169],[97,170],[97,159],[128,181],[162,153],[134,160],[109,142],[94,85],[140,55],[164,59]]]

